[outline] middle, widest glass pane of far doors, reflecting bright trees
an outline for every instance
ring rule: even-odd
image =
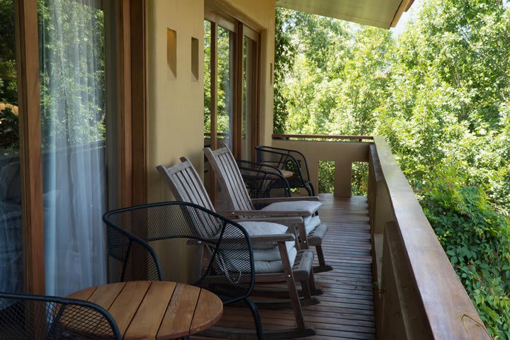
[[[232,149],[234,132],[235,34],[218,26],[217,32],[217,145]]]

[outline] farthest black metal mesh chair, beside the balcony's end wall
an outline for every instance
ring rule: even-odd
[[[287,179],[290,188],[305,188],[308,196],[315,196],[315,188],[310,181],[310,171],[304,154],[293,149],[266,145],[256,146],[255,149],[257,162],[293,173],[293,176]]]

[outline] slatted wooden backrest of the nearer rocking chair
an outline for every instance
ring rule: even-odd
[[[158,165],[156,169],[162,174],[169,184],[171,193],[176,200],[195,203],[203,208],[215,211],[214,205],[198,176],[198,172],[186,157],[181,157],[181,164],[171,166]]]

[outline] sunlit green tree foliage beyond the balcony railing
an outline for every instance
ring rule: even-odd
[[[276,42],[294,54],[276,47],[276,131],[385,137],[489,332],[510,339],[510,8],[412,11],[392,38],[280,9]]]

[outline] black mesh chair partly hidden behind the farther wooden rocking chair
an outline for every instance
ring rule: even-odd
[[[237,159],[250,198],[290,197],[290,186],[276,166]]]

